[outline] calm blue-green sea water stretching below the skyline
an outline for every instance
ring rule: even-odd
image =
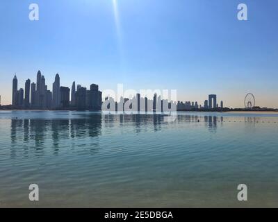
[[[0,112],[0,207],[278,207],[277,136],[278,114]]]

